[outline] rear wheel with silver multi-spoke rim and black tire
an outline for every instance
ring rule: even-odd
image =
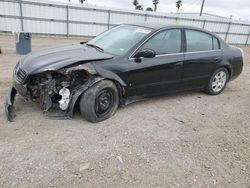
[[[217,69],[211,76],[205,92],[209,95],[218,95],[226,87],[229,74],[226,68],[222,67]]]

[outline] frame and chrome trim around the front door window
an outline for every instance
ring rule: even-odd
[[[184,31],[183,28],[167,28],[167,29],[161,29],[155,33],[153,33],[151,36],[149,36],[145,41],[143,41],[135,50],[134,52],[131,53],[131,55],[129,56],[129,59],[135,59],[134,55],[141,49],[141,47],[148,42],[151,38],[153,38],[154,36],[156,36],[157,34],[164,32],[164,31],[168,31],[168,30],[173,30],[173,29],[179,29],[181,32],[181,51],[178,53],[172,53],[172,54],[159,54],[156,55],[155,57],[161,57],[161,56],[167,56],[167,55],[177,55],[177,54],[183,54],[184,52]]]

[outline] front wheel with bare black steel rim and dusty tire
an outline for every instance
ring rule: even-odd
[[[102,80],[90,87],[80,99],[82,116],[92,123],[108,119],[119,105],[118,90],[114,82]]]

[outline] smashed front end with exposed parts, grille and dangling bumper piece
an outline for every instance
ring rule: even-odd
[[[17,93],[28,101],[38,102],[51,118],[71,118],[79,96],[102,79],[89,63],[35,75],[28,75],[17,65],[13,87],[7,93],[5,102],[7,120],[13,121],[15,117],[14,100]]]

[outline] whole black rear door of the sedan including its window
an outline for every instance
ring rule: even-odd
[[[217,63],[222,61],[222,51],[216,37],[199,30],[185,29],[184,89],[204,87]]]

